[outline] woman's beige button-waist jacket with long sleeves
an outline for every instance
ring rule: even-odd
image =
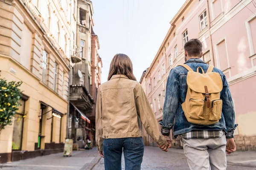
[[[148,98],[139,82],[114,75],[99,87],[96,103],[96,145],[103,139],[141,137],[142,125],[159,145],[166,142]]]

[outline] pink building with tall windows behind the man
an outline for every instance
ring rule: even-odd
[[[203,43],[204,61],[220,68],[229,82],[239,124],[235,132],[238,149],[256,150],[256,8],[253,0],[186,0],[170,24],[152,64],[140,80],[157,120],[163,118],[169,72],[184,62],[184,43],[198,38]],[[144,134],[145,143],[156,146]],[[179,139],[173,143],[181,145]]]

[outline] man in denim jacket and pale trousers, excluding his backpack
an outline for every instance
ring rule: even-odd
[[[184,45],[184,50],[185,64],[195,72],[198,67],[201,67],[206,73],[209,65],[200,59],[203,55],[200,40],[189,40]],[[202,73],[200,69],[199,72]],[[220,92],[220,99],[223,102],[222,113],[220,110],[221,119],[213,125],[197,125],[186,119],[181,106],[185,102],[188,90],[186,68],[183,66],[173,68],[166,85],[163,121],[160,122],[162,134],[169,139],[170,129],[174,127],[174,136],[175,138],[181,136],[184,153],[191,170],[226,170],[225,150],[227,154],[236,150],[233,137],[237,125],[235,125],[235,111],[227,79],[217,68],[213,68],[212,72],[220,75],[223,84]],[[205,102],[207,102],[207,96]]]

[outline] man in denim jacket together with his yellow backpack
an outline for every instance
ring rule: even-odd
[[[226,170],[225,150],[236,150],[237,127],[227,79],[200,59],[200,40],[189,40],[184,50],[185,64],[173,68],[168,77],[162,134],[169,136],[174,127],[191,170]]]

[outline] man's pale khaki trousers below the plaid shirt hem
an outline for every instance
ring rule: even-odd
[[[226,170],[226,137],[184,139],[183,149],[190,170]]]

